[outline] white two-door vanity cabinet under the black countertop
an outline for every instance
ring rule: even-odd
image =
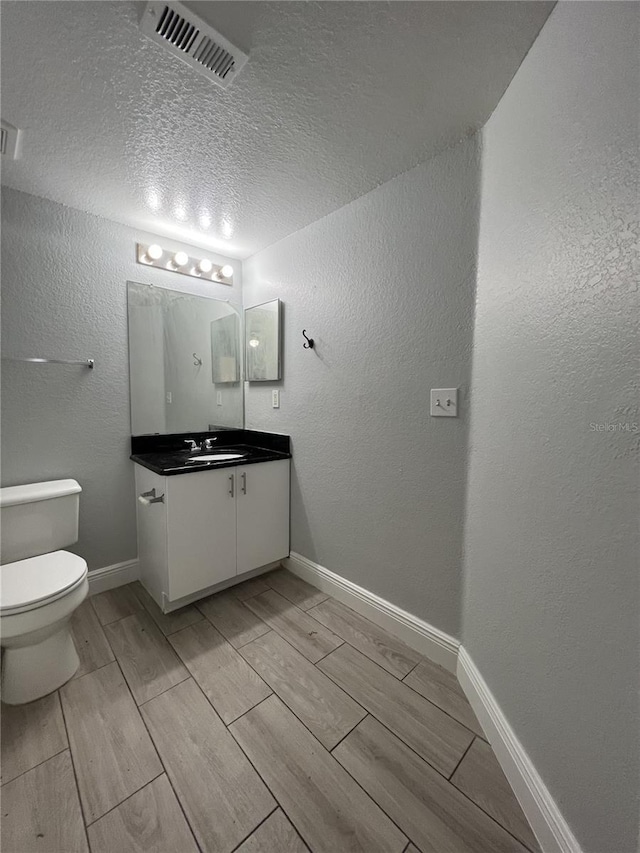
[[[140,577],[163,609],[289,554],[288,459],[169,477],[136,465],[136,491]]]

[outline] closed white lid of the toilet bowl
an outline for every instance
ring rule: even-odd
[[[0,566],[0,612],[31,610],[60,598],[87,574],[87,564],[69,551],[53,551]]]

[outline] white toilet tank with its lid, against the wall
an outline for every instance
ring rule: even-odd
[[[0,563],[13,563],[78,541],[82,488],[51,480],[0,489]]]

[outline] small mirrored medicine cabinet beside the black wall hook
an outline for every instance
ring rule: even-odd
[[[245,367],[249,382],[282,379],[281,315],[279,299],[245,309]]]

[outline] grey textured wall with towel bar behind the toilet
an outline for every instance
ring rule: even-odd
[[[135,263],[135,243],[149,238],[35,196],[2,191],[3,354],[96,360],[93,371],[2,362],[2,484],[76,478],[83,493],[74,550],[90,569],[137,554],[127,279],[241,301],[239,263],[233,289],[143,269]]]

